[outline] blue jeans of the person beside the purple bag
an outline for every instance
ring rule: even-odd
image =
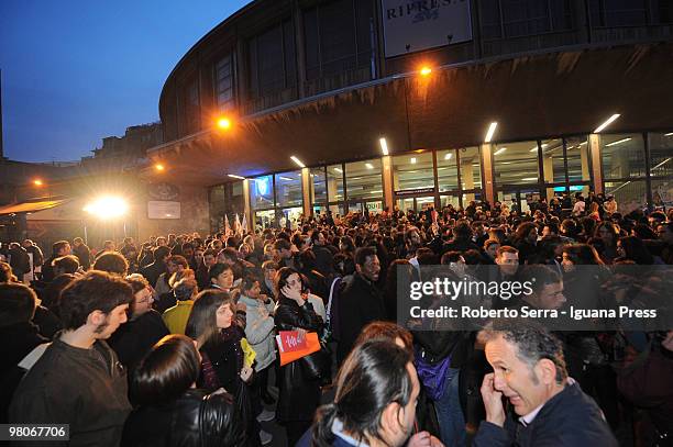
[[[446,389],[440,400],[434,402],[434,410],[444,445],[464,447],[466,432],[459,396],[459,371],[457,368],[446,369]]]

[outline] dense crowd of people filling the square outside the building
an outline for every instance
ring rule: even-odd
[[[649,266],[617,288],[597,277],[589,293],[671,300],[657,267],[673,264],[673,211],[621,215],[593,194],[526,213],[473,201],[92,252],[80,237],[48,257],[27,239],[0,246],[0,423],[67,423],[71,445],[101,446],[282,445],[269,421],[289,446],[673,437],[673,331],[452,331],[397,306],[399,272],[433,265],[455,278],[539,266],[536,309],[569,305],[582,266]],[[317,333],[321,355],[280,366],[280,331]]]

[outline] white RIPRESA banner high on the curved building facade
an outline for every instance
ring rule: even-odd
[[[472,40],[470,0],[380,0],[386,57]]]

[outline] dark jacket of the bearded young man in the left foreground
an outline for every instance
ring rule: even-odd
[[[70,424],[69,446],[117,446],[131,404],[126,372],[103,340],[89,349],[54,339],[24,376],[10,423]]]

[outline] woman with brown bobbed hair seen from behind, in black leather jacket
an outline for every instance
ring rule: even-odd
[[[131,401],[136,406],[124,424],[121,445],[245,445],[233,396],[197,389],[200,369],[199,354],[188,337],[167,335],[154,345],[131,381]]]

